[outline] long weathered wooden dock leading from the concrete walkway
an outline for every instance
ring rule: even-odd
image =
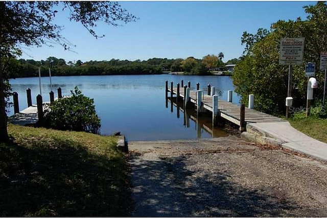
[[[183,102],[185,102],[185,91],[186,87],[179,88],[173,87],[171,83],[171,87],[168,88],[168,81],[166,81],[166,97],[168,97],[168,93],[170,93],[170,97],[176,97],[177,99],[181,99]],[[200,90],[201,91],[201,90]],[[213,107],[213,96],[207,95],[207,92],[200,92],[201,93],[201,106],[198,106],[198,99],[197,96],[199,96],[199,93],[197,91],[191,91],[188,89],[189,93],[186,93],[186,95],[189,95],[189,101],[192,104],[195,105],[195,107],[199,108],[200,110],[206,110],[208,112],[213,113],[213,121],[216,119],[214,115],[214,107]],[[244,118],[242,117],[242,114]],[[278,117],[274,117],[269,114],[265,114],[259,111],[255,111],[253,109],[250,109],[248,107],[245,107],[243,105],[243,112],[242,112],[242,104],[237,105],[231,102],[224,101],[218,97],[218,113],[217,117],[224,118],[225,120],[228,120],[231,123],[234,123],[238,126],[240,126],[241,130],[246,129],[246,125],[248,123],[271,123],[271,122],[286,122],[286,120]],[[244,119],[244,121],[242,120]]]

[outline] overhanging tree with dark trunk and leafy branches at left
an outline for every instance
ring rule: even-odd
[[[109,25],[135,21],[136,17],[117,2],[0,2],[0,142],[8,140],[5,95],[8,93],[6,61],[20,53],[19,45],[59,44],[69,49],[61,36],[62,26],[54,24],[56,9],[69,11],[69,20],[80,22],[94,37],[96,23]],[[61,10],[60,10],[61,11]]]

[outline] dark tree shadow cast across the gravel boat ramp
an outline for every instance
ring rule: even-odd
[[[138,160],[132,167],[132,216],[301,216],[301,207],[228,180],[226,172],[186,169],[185,156]]]

